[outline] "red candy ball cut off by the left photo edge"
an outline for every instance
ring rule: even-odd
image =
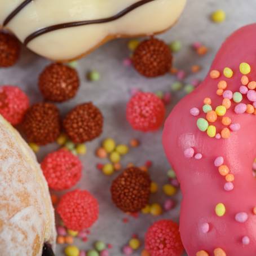
[[[28,96],[17,86],[0,86],[0,114],[12,125],[23,121],[29,107]]]

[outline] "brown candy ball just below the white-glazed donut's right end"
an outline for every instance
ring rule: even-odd
[[[143,41],[133,55],[134,68],[145,77],[157,77],[169,72],[171,50],[165,42],[156,38]]]

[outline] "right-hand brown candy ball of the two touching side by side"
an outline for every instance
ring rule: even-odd
[[[102,133],[103,116],[94,104],[84,103],[67,114],[63,126],[74,143],[89,142]]]

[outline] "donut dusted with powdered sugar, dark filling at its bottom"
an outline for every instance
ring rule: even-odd
[[[54,210],[36,156],[2,116],[0,140],[0,254],[52,256]]]

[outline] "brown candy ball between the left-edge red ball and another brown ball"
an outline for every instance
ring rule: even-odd
[[[29,142],[45,145],[60,135],[59,109],[51,103],[32,105],[25,114],[23,130]]]

